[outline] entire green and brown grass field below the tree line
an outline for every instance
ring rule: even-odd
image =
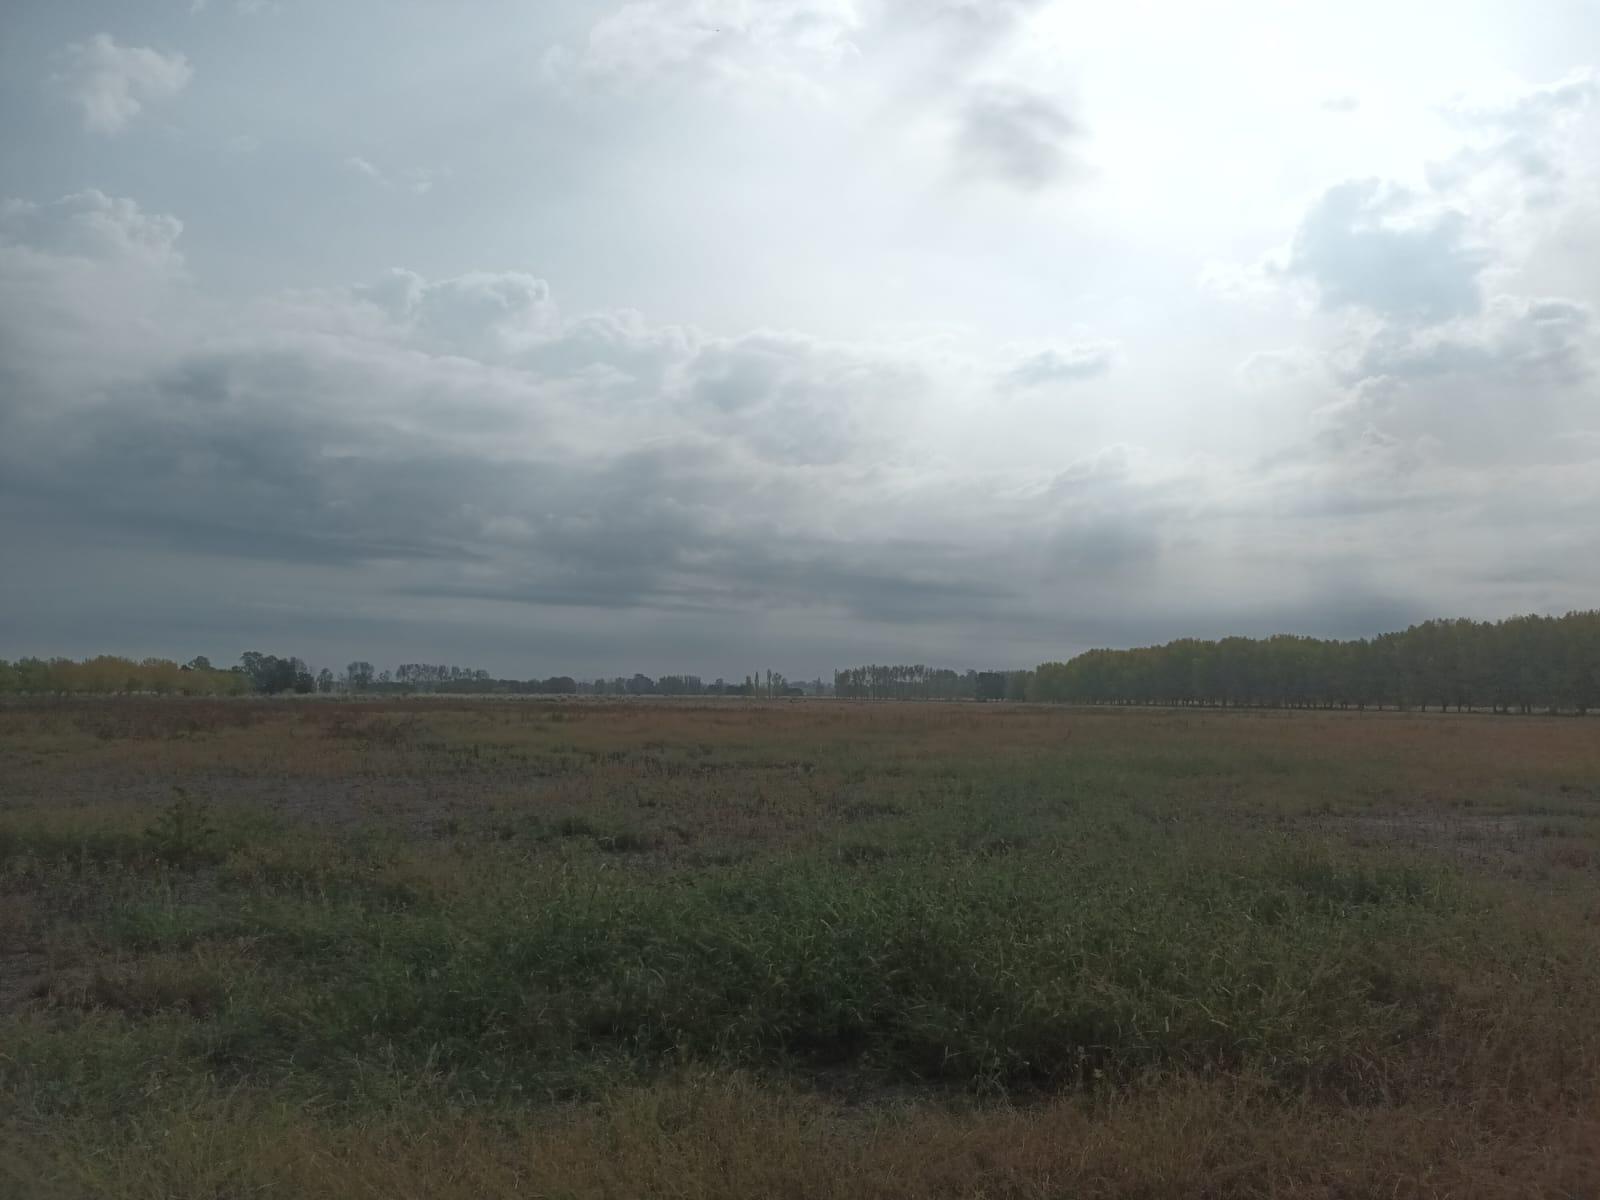
[[[1600,723],[0,707],[0,1195],[1600,1195]]]

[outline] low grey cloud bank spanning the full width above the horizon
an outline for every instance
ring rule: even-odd
[[[1030,662],[1174,622],[1426,610],[1418,563],[1464,550],[1411,539],[1522,520],[1493,509],[1501,472],[1536,490],[1542,459],[1568,501],[1600,493],[1574,467],[1594,456],[1574,435],[1594,424],[1584,298],[1379,322],[1395,341],[1330,352],[1317,437],[1258,466],[1061,427],[1005,442],[997,376],[922,342],[568,314],[526,270],[224,301],[181,245],[174,218],[99,192],[0,210],[0,536],[56,555],[11,586],[13,622],[82,610],[72,547],[162,563],[170,586],[139,574],[146,608],[118,602],[118,629],[203,619],[298,653],[374,654],[363,638],[389,629],[397,654],[477,638],[472,658],[541,674],[682,669],[688,648],[712,672],[755,653],[808,674],[858,653]],[[1114,358],[1083,341],[1005,376],[1066,386]],[[1558,400],[1518,406],[1541,379]],[[1360,570],[1333,587],[1336,552]],[[226,592],[211,616],[197,579]]]

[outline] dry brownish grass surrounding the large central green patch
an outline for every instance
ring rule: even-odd
[[[142,832],[174,786],[222,826],[184,870],[152,861]],[[357,1088],[381,1099],[352,1104],[317,1090],[325,1062],[272,1075],[205,1056],[234,992],[275,986],[280,963],[253,934],[122,946],[96,925],[130,901],[176,923],[290,896],[323,915],[366,904],[362,920],[382,930],[390,902],[448,922],[563,872],[634,888],[730,862],[1010,864],[1030,838],[1062,870],[1098,848],[1130,862],[1149,850],[1181,866],[1173,880],[1232,869],[1235,845],[1242,875],[1267,862],[1248,858],[1262,846],[1306,850],[1314,874],[1374,854],[1437,866],[1470,904],[1427,926],[1438,941],[1406,947],[1437,1011],[1346,1064],[1360,1086],[1296,1091],[1222,1064],[1010,1102],[694,1062],[619,1075],[582,1104],[510,1104],[432,1059],[373,1051],[346,1066],[398,1082]],[[811,701],[0,706],[6,846],[0,1019],[32,1048],[0,1043],[0,1195],[1600,1197],[1594,720]],[[1166,877],[1141,886],[1150,878]],[[330,978],[334,965],[314,963]],[[96,1083],[99,1062],[125,1083]]]

